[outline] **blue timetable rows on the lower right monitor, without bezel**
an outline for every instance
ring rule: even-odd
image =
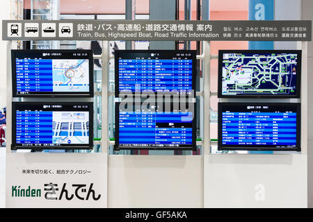
[[[223,112],[225,145],[296,146],[295,112]]]

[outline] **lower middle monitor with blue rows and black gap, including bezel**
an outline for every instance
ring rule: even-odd
[[[115,103],[115,150],[195,150],[195,104]]]

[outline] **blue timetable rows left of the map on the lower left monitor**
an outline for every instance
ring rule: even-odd
[[[17,144],[52,144],[52,112],[17,111]]]

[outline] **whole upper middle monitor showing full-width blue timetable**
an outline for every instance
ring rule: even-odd
[[[115,51],[115,96],[188,94],[195,90],[196,51]],[[192,91],[193,90],[193,91]]]

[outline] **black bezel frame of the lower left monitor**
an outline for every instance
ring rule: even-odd
[[[77,144],[66,144],[63,146],[20,146],[16,144],[16,105],[88,105],[89,107],[89,144],[79,146]],[[93,102],[12,102],[12,144],[11,150],[33,149],[42,150],[92,150],[93,149]]]

